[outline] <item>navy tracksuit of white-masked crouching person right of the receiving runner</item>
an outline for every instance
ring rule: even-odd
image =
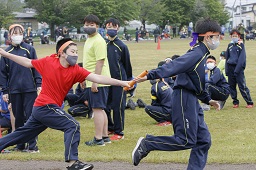
[[[217,67],[210,70],[210,78],[206,81],[205,88],[213,100],[225,101],[230,94],[229,84]]]

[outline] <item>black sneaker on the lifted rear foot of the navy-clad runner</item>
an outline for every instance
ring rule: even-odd
[[[147,151],[145,145],[144,137],[140,137],[135,148],[132,152],[132,162],[134,166],[139,165],[140,161],[148,155],[149,151]]]

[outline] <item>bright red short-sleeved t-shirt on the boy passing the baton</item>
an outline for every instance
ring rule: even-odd
[[[55,54],[39,60],[32,60],[34,68],[42,75],[42,91],[34,106],[57,104],[61,106],[65,96],[77,82],[83,82],[90,74],[78,66],[63,67]]]

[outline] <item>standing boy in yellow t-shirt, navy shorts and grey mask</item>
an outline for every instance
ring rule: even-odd
[[[107,58],[107,44],[97,32],[100,20],[96,15],[87,15],[84,19],[84,31],[88,38],[84,44],[83,66],[90,72],[110,77]],[[94,114],[95,136],[85,142],[89,146],[105,146],[110,143],[108,137],[108,118],[104,111],[107,106],[108,86],[86,81],[89,88],[89,105]]]

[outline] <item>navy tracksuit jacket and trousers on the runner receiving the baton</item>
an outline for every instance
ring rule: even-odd
[[[178,151],[191,149],[189,170],[202,170],[207,162],[211,136],[204,122],[203,110],[198,98],[209,104],[210,97],[205,92],[205,61],[208,48],[200,42],[185,55],[151,70],[147,79],[157,79],[177,75],[172,93],[173,136],[147,135],[145,143],[148,151]]]

